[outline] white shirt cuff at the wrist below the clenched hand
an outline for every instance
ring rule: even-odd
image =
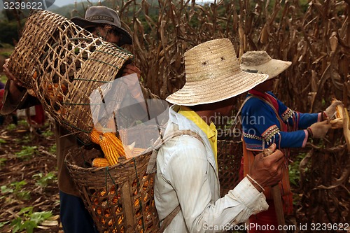
[[[259,192],[246,177],[230,192],[252,213],[265,211],[269,207],[265,195]]]

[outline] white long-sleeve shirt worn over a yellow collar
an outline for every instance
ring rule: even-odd
[[[265,211],[265,196],[247,178],[220,198],[218,171],[207,136],[177,111],[179,106],[170,108],[165,134],[191,129],[200,134],[204,144],[183,135],[169,140],[158,152],[155,206],[160,220],[181,206],[165,232],[221,232]]]

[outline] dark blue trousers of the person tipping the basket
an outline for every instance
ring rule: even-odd
[[[59,202],[64,233],[98,233],[82,199],[59,191]]]

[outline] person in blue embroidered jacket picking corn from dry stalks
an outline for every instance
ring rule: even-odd
[[[243,132],[244,157],[241,161],[241,178],[251,168],[253,157],[273,143],[286,156],[285,169],[288,170],[288,148],[302,148],[309,138],[322,138],[330,129],[328,119],[335,113],[337,101],[322,113],[299,113],[285,106],[271,92],[274,79],[285,71],[291,62],[272,59],[265,51],[248,51],[241,57],[241,69],[253,73],[265,73],[269,78],[249,90],[241,108],[241,125]],[[288,171],[283,173],[280,183],[283,200],[283,211],[290,214],[293,211],[292,193]],[[274,225],[277,231],[277,218],[270,189],[265,189],[269,209],[249,218],[256,225]],[[249,232],[258,232],[251,228]]]

